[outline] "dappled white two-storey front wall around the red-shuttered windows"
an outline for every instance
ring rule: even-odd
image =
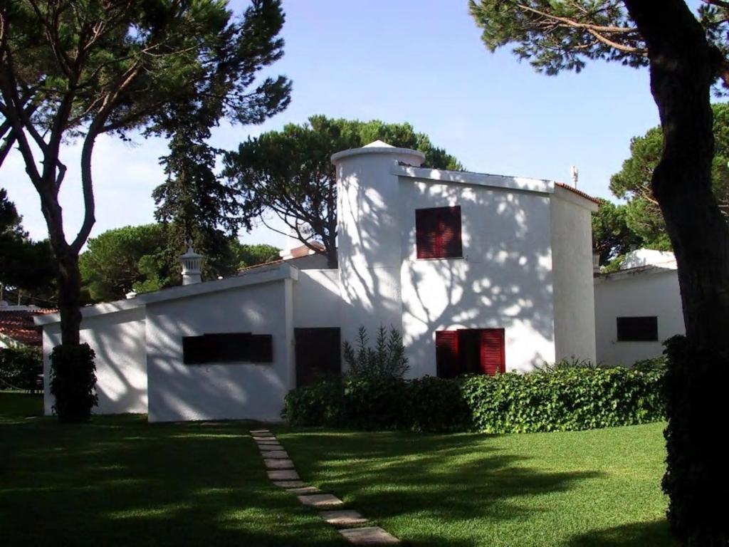
[[[554,359],[547,193],[400,177],[402,325],[410,376],[435,376],[435,331],[505,330],[507,371]],[[418,260],[415,210],[461,206],[463,258]]]

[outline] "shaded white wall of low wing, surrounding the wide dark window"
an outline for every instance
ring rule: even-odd
[[[281,419],[295,385],[292,279],[147,305],[149,421]],[[273,362],[184,365],[182,337],[273,336]]]

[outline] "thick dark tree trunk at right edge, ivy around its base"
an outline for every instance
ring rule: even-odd
[[[683,545],[728,545],[729,468],[715,421],[729,392],[729,230],[712,194],[711,86],[721,56],[683,0],[625,0],[644,37],[663,128],[652,191],[678,263],[686,344],[670,344],[668,521]]]

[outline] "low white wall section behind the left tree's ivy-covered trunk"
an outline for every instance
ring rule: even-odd
[[[147,412],[147,360],[144,306],[94,317],[84,317],[80,339],[96,354],[95,414]],[[51,414],[50,352],[61,344],[61,325],[43,328],[44,412]]]

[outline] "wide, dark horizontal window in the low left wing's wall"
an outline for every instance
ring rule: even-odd
[[[182,362],[273,362],[270,334],[214,333],[182,338]]]

